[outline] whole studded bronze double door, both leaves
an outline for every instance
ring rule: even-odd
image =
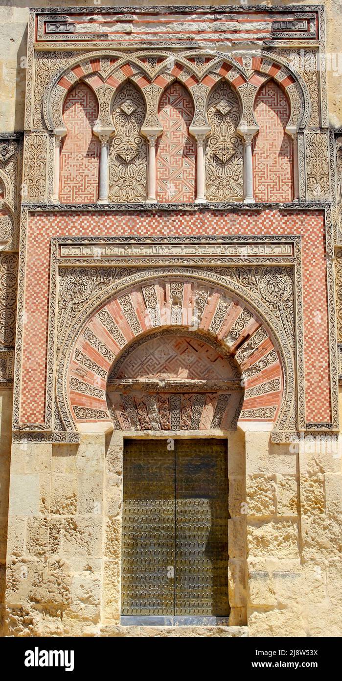
[[[224,616],[226,441],[126,440],[122,615]]]

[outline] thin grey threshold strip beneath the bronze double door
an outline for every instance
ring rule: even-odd
[[[122,615],[122,627],[228,627],[229,618],[191,615]]]

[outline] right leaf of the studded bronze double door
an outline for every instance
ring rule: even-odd
[[[175,496],[175,615],[227,615],[225,441],[177,441]]]

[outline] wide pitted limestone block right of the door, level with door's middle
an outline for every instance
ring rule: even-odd
[[[298,556],[298,526],[291,520],[247,525],[249,556]]]

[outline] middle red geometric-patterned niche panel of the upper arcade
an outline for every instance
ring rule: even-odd
[[[158,116],[163,134],[157,142],[156,180],[160,203],[192,203],[195,198],[196,143],[189,134],[192,99],[175,81],[160,98]]]

